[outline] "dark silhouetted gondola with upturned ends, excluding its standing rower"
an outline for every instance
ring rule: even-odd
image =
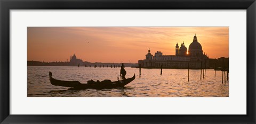
[[[54,79],[52,77],[52,73],[49,72],[50,82],[52,85],[55,86],[65,86],[71,87],[78,90],[86,89],[86,88],[94,88],[94,89],[103,89],[103,88],[117,88],[117,87],[124,87],[126,84],[129,84],[135,79],[135,74],[131,78],[123,79],[121,81],[111,82],[110,80],[104,80],[102,82],[94,82],[89,81],[87,84],[80,83],[78,81],[61,81],[58,79]]]

